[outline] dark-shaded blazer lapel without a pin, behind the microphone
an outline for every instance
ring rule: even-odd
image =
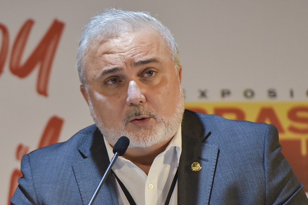
[[[98,129],[93,136],[85,138],[85,142],[79,147],[79,152],[83,159],[75,163],[72,168],[82,202],[88,204],[109,165],[103,135]],[[112,175],[107,177],[94,204],[118,204]]]

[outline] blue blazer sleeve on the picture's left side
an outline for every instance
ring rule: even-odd
[[[18,187],[10,199],[13,205],[39,204],[36,198],[36,193],[33,185],[33,178],[30,167],[30,158],[26,154],[21,160],[22,177],[18,179]]]

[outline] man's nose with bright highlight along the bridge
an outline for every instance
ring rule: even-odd
[[[140,89],[135,81],[130,81],[128,84],[128,90],[127,90],[127,99],[126,103],[131,105],[138,105],[139,103],[145,102],[145,97],[143,94],[141,94]]]

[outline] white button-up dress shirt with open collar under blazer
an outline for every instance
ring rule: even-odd
[[[104,138],[109,160],[113,157],[110,144]],[[137,205],[164,205],[172,180],[179,166],[182,151],[181,126],[169,145],[154,159],[148,175],[130,160],[119,157],[112,167]],[[115,179],[119,205],[129,205],[124,192]],[[177,181],[169,204],[177,204]]]

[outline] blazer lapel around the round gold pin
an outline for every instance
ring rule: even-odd
[[[219,154],[216,145],[205,143],[210,134],[196,113],[184,112],[178,176],[179,205],[209,204]],[[193,162],[200,163],[200,171],[191,170]]]

